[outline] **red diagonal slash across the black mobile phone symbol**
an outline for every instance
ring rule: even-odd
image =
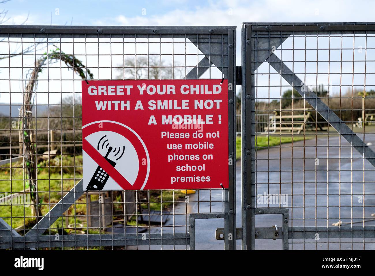
[[[86,140],[83,139],[83,149],[87,154],[101,166],[113,180],[121,186],[124,190],[132,189],[132,185],[121,175],[107,160]]]

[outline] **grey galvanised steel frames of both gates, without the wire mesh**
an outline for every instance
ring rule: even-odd
[[[37,249],[42,247],[87,247],[90,246],[152,246],[152,245],[187,245],[190,249],[195,249],[195,220],[196,219],[224,219],[224,229],[219,228],[216,231],[218,240],[225,240],[225,249],[236,249],[236,239],[243,239],[243,249],[255,249],[255,240],[260,239],[282,239],[282,249],[287,250],[292,245],[293,240],[310,240],[317,237],[326,239],[351,240],[353,248],[353,239],[362,238],[365,248],[365,239],[374,238],[375,227],[365,225],[365,219],[368,217],[363,214],[363,225],[353,226],[353,217],[350,226],[329,226],[330,217],[327,215],[327,226],[318,226],[317,216],[315,216],[315,226],[294,226],[293,225],[293,205],[292,208],[262,207],[256,204],[257,191],[257,144],[255,143],[256,130],[256,100],[258,100],[257,89],[260,87],[255,76],[264,74],[257,70],[262,63],[267,62],[269,68],[273,68],[291,87],[293,87],[300,96],[311,105],[319,115],[326,120],[334,130],[338,131],[340,137],[346,140],[356,152],[363,156],[363,161],[369,162],[372,166],[375,164],[374,151],[356,134],[352,128],[348,127],[347,122],[342,121],[328,105],[321,100],[312,89],[305,85],[304,81],[290,69],[286,63],[274,53],[282,43],[288,38],[302,35],[308,36],[328,36],[362,34],[366,38],[375,33],[375,24],[373,23],[319,23],[319,24],[275,24],[275,23],[244,23],[242,29],[242,210],[243,210],[243,228],[236,228],[236,151],[235,151],[235,95],[236,95],[236,28],[235,27],[51,27],[51,26],[3,26],[1,29],[3,38],[18,37],[21,38],[185,38],[191,41],[200,51],[199,54],[204,58],[197,61],[197,65],[187,75],[188,79],[201,77],[211,66],[215,66],[222,72],[224,78],[228,78],[228,83],[233,84],[229,87],[229,151],[228,159],[233,165],[229,166],[229,189],[223,192],[223,211],[219,213],[197,213],[189,215],[189,231],[186,233],[147,233],[141,234],[74,234],[61,235],[56,239],[55,235],[42,235],[62,214],[79,199],[83,191],[82,182],[78,182],[74,188],[68,192],[54,207],[50,208],[39,222],[24,236],[14,231],[3,219],[0,219],[0,248],[1,249]],[[367,46],[367,43],[366,43]],[[366,48],[365,46],[365,48]],[[305,45],[305,51],[307,49]],[[351,50],[355,50],[353,46]],[[293,50],[289,49],[289,50]],[[313,50],[319,50],[313,47]],[[343,48],[341,47],[341,51]],[[73,53],[74,54],[74,53]],[[173,54],[173,53],[172,53]],[[22,54],[21,54],[22,56]],[[185,52],[186,56],[186,52]],[[327,61],[327,60],[326,60]],[[329,62],[330,60],[328,60]],[[294,57],[292,62],[294,62]],[[342,60],[341,60],[342,62]],[[160,69],[163,66],[160,64]],[[173,65],[172,65],[173,67]],[[184,66],[186,68],[186,64]],[[238,68],[240,69],[240,68]],[[186,69],[185,69],[186,70]],[[237,70],[237,72],[241,72]],[[317,72],[318,73],[318,72]],[[240,73],[241,74],[241,73]],[[268,72],[269,77],[271,76]],[[354,72],[353,72],[354,74]],[[267,74],[266,74],[267,75]],[[211,73],[210,73],[211,76]],[[237,74],[240,79],[240,75]],[[10,81],[10,79],[9,79]],[[352,86],[354,84],[352,83]],[[269,85],[270,89],[271,85]],[[270,100],[270,96],[268,97]],[[352,96],[353,100],[353,96]],[[293,100],[292,100],[293,102]],[[11,105],[11,103],[10,103]],[[353,108],[352,108],[353,109]],[[341,106],[340,106],[341,110]],[[268,110],[270,111],[270,110]],[[9,118],[10,119],[10,118]],[[353,119],[351,123],[354,123]],[[48,129],[49,131],[49,129]],[[281,134],[280,138],[281,138]],[[329,136],[329,133],[327,134]],[[316,134],[316,138],[318,134]],[[364,137],[364,136],[363,136]],[[317,145],[316,145],[317,146]],[[305,145],[303,146],[305,148]],[[339,147],[341,145],[341,140]],[[327,146],[328,148],[328,146]],[[270,147],[268,147],[270,149]],[[293,144],[292,144],[293,149]],[[327,155],[328,157],[328,155]],[[303,158],[304,162],[305,159]],[[316,159],[316,158],[315,158]],[[271,159],[270,159],[271,160]],[[282,158],[279,158],[282,161]],[[315,160],[316,161],[316,160]],[[229,162],[230,163],[230,162]],[[367,164],[367,163],[366,163]],[[351,165],[353,166],[353,153],[351,155]],[[365,165],[364,165],[365,166]],[[11,166],[10,166],[11,167]],[[293,167],[292,167],[293,170]],[[366,170],[368,171],[368,170]],[[282,172],[280,167],[279,172]],[[305,173],[305,169],[303,170]],[[363,173],[365,168],[363,167]],[[315,169],[316,173],[316,169]],[[328,173],[328,169],[327,169]],[[315,184],[318,182],[315,180]],[[270,183],[267,183],[270,184]],[[280,180],[279,185],[282,186]],[[293,185],[293,181],[291,182]],[[305,184],[305,183],[303,183]],[[340,182],[341,184],[341,182]],[[327,182],[328,185],[328,182]],[[363,181],[365,186],[365,181]],[[63,191],[62,191],[63,192]],[[211,190],[210,190],[211,192]],[[365,191],[363,191],[365,192]],[[292,192],[292,200],[293,200]],[[303,194],[305,197],[305,194]],[[315,192],[315,196],[318,196]],[[340,196],[340,195],[339,195]],[[351,192],[353,196],[353,191]],[[327,192],[327,200],[329,193]],[[211,199],[210,199],[211,205]],[[198,199],[199,204],[199,199]],[[49,203],[49,205],[51,205]],[[305,206],[299,206],[305,212]],[[339,204],[339,208],[340,208]],[[345,206],[348,207],[348,206]],[[353,209],[352,205],[349,206]],[[373,207],[363,203],[363,208]],[[315,206],[315,208],[317,208]],[[327,205],[328,208],[328,205]],[[256,227],[255,217],[258,215],[281,215],[282,225],[278,227],[269,225],[269,227]],[[336,219],[336,218],[335,218]],[[341,217],[339,216],[340,220]],[[305,223],[305,217],[302,218]],[[272,223],[273,224],[273,223]],[[144,238],[145,237],[145,238]],[[290,242],[291,240],[291,242]],[[315,244],[318,240],[315,239]],[[305,246],[305,244],[303,245]],[[305,247],[304,247],[305,248]]]

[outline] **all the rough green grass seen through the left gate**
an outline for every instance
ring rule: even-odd
[[[47,214],[50,208],[60,201],[62,191],[71,190],[83,177],[82,155],[76,155],[75,157],[72,155],[63,155],[63,157],[59,155],[56,158],[43,160],[38,164],[38,197],[42,215]],[[23,163],[12,163],[11,169],[9,166],[10,164],[0,166],[0,198],[2,195],[5,195],[5,193],[16,193],[28,189],[28,181],[23,180],[27,178],[24,176]],[[185,194],[181,193],[179,190],[156,190],[143,193],[149,193],[150,195],[150,210],[169,210],[171,205],[182,202],[185,198]],[[26,193],[25,197],[27,196],[30,196],[30,194]],[[92,201],[98,200],[98,195],[91,195],[91,199]],[[120,193],[115,196],[113,202],[121,202]],[[118,213],[115,211],[119,211],[121,205],[123,204],[118,203],[113,205],[114,217],[116,216],[115,213]],[[142,203],[141,206],[148,210],[147,202]],[[62,232],[66,216],[68,217],[69,224],[82,223],[84,225],[82,230],[85,231],[87,227],[86,196],[82,196],[68,209],[64,214],[64,219],[60,217],[51,226],[51,234]],[[31,208],[27,206],[24,207],[23,202],[19,205],[12,204],[12,206],[9,204],[0,204],[0,217],[9,225],[11,224],[12,228],[23,226],[24,223],[26,228],[31,228],[36,223],[35,217],[31,217]],[[133,220],[135,221],[135,219]],[[132,222],[129,223],[131,224]],[[64,229],[64,231],[69,233],[70,230]],[[46,232],[49,233],[49,231]],[[89,232],[90,234],[99,233],[99,229],[98,231],[89,229]]]

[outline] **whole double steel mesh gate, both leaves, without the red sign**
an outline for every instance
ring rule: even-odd
[[[235,27],[0,37],[0,249],[196,249],[208,226],[224,249],[375,248],[375,24],[244,23],[242,73]],[[152,78],[228,78],[229,189],[83,190],[80,82]]]

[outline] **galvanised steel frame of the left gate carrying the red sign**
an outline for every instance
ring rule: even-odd
[[[55,235],[43,235],[52,223],[54,223],[59,217],[61,217],[69,207],[75,204],[75,202],[84,195],[82,181],[79,181],[73,189],[57,203],[53,204],[49,202],[49,213],[43,216],[37,224],[26,232],[23,236],[13,230],[3,219],[0,219],[0,249],[38,249],[43,247],[89,247],[91,246],[153,246],[153,245],[187,245],[190,249],[195,249],[195,220],[196,219],[211,219],[221,218],[224,219],[224,232],[225,249],[236,248],[236,27],[150,27],[150,26],[129,26],[129,27],[109,27],[109,26],[1,26],[0,36],[5,39],[9,38],[20,38],[21,44],[24,38],[31,38],[35,40],[37,38],[54,38],[57,41],[57,45],[61,45],[62,38],[80,38],[86,39],[97,38],[98,41],[102,38],[110,39],[144,39],[143,42],[147,42],[149,39],[184,39],[190,41],[197,48],[196,50],[196,66],[186,74],[186,79],[197,79],[201,77],[206,71],[209,71],[209,78],[211,78],[211,68],[216,67],[221,71],[220,78],[228,78],[229,85],[229,149],[228,149],[228,160],[229,160],[229,189],[210,189],[210,199],[208,202],[210,210],[213,200],[211,201],[211,193],[220,192],[222,193],[222,212],[219,213],[201,213],[199,212],[199,190],[198,192],[198,213],[188,214],[189,224],[185,227],[188,229],[186,232],[178,232],[173,229],[173,232],[169,233],[124,233],[124,234],[74,234],[74,235],[60,235],[56,238]],[[48,40],[47,40],[48,42]],[[160,41],[159,41],[160,42]],[[174,41],[172,41],[173,43]],[[8,41],[9,43],[9,41]],[[137,46],[135,46],[136,49]],[[147,46],[148,47],[148,46]],[[98,42],[99,48],[99,42]],[[47,48],[48,49],[48,48]],[[73,48],[74,49],[74,48]],[[161,44],[160,44],[161,50]],[[33,53],[33,52],[32,52]],[[35,54],[35,52],[34,52]],[[47,50],[47,54],[49,51]],[[73,53],[67,53],[72,54]],[[137,53],[135,53],[137,54]],[[174,52],[168,53],[174,55]],[[186,42],[185,52],[182,53],[185,56],[186,53]],[[23,52],[19,54],[23,56]],[[84,53],[87,56],[87,53]],[[107,56],[111,58],[112,52],[107,53]],[[160,59],[162,53],[160,52]],[[148,57],[148,51],[147,51]],[[201,57],[203,57],[201,59]],[[99,59],[99,57],[98,57]],[[23,65],[21,65],[23,66]],[[135,65],[136,67],[137,65]],[[174,68],[174,63],[170,66]],[[89,66],[88,66],[89,67]],[[165,67],[160,61],[160,74],[161,69]],[[185,72],[186,63],[184,64]],[[61,63],[60,63],[61,69]],[[98,64],[98,70],[100,69]],[[112,69],[112,63],[111,63]],[[148,72],[148,62],[147,62]],[[173,70],[173,69],[172,69]],[[173,73],[172,73],[173,74]],[[136,75],[136,74],[135,74]],[[207,73],[206,73],[207,75]],[[112,73],[111,73],[112,76]],[[94,76],[96,77],[96,76]],[[160,75],[160,77],[162,77]],[[10,81],[10,77],[9,77]],[[49,78],[48,78],[49,81]],[[48,90],[49,93],[49,90]],[[12,103],[10,103],[11,106]],[[11,115],[9,115],[10,119]],[[49,116],[48,116],[49,117]],[[49,118],[48,118],[49,119]],[[61,118],[60,118],[61,119]],[[60,129],[62,131],[62,129]],[[48,128],[49,131],[49,128]],[[78,130],[75,130],[78,131]],[[11,146],[10,146],[11,149]],[[12,168],[10,163],[10,169]],[[75,179],[74,179],[75,180]],[[222,191],[222,192],[221,192]],[[63,195],[63,191],[61,191]],[[137,198],[137,204],[138,198]],[[174,204],[174,203],[173,203]],[[173,205],[174,206],[174,205]],[[25,215],[24,215],[25,216]],[[74,215],[75,216],[75,215]],[[173,214],[174,216],[174,214]],[[24,217],[25,218],[25,217]],[[173,218],[174,219],[174,218]],[[179,225],[180,226],[180,225]],[[177,227],[177,226],[176,226]],[[173,225],[173,228],[175,226]],[[113,229],[112,229],[113,230]],[[214,233],[213,233],[214,235]]]

